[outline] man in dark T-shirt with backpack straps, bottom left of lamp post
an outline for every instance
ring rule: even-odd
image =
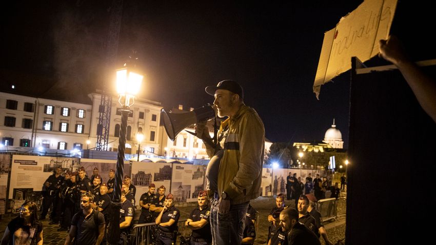
[[[102,213],[91,208],[93,195],[82,194],[80,207],[81,212],[76,213],[71,220],[70,232],[65,239],[65,245],[75,244],[98,245],[102,242],[105,234],[105,218]]]

